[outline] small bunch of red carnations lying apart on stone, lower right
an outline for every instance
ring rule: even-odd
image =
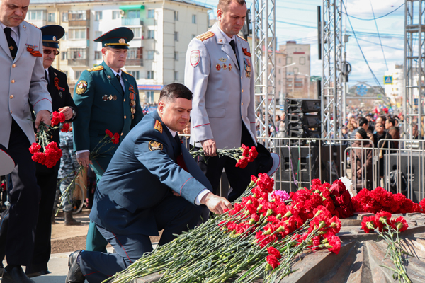
[[[386,265],[381,266],[394,271],[393,277],[398,279],[399,282],[412,282],[407,276],[406,267],[404,267],[404,263],[407,262],[404,255],[410,254],[403,249],[399,239],[399,233],[406,231],[409,225],[403,217],[391,219],[391,216],[389,212],[378,212],[374,216],[364,217],[361,226],[366,233],[376,231],[380,238],[387,242],[387,254],[394,262],[395,269]]]

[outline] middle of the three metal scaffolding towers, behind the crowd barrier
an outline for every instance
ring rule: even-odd
[[[340,137],[342,21],[340,0],[322,1],[322,137]]]

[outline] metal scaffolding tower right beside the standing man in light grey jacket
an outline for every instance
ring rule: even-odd
[[[276,8],[275,0],[254,0],[252,15],[256,120],[259,137],[268,137],[268,122],[276,115]],[[268,122],[267,122],[268,121]],[[275,127],[272,130],[276,131]],[[268,140],[266,139],[266,142]],[[266,144],[267,146],[267,144]]]

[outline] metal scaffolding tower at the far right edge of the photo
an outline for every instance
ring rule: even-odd
[[[424,129],[424,0],[406,0],[404,3],[404,132],[412,133],[412,122],[418,130]],[[419,91],[420,90],[420,91]],[[419,122],[421,121],[421,122]],[[409,128],[409,129],[408,129]],[[405,138],[412,138],[409,135]]]

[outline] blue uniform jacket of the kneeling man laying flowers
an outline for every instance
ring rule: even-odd
[[[188,172],[176,163],[180,153]],[[177,144],[155,111],[118,147],[98,183],[90,219],[113,233],[158,235],[151,208],[171,190],[195,204],[204,188],[212,190],[195,159]]]

